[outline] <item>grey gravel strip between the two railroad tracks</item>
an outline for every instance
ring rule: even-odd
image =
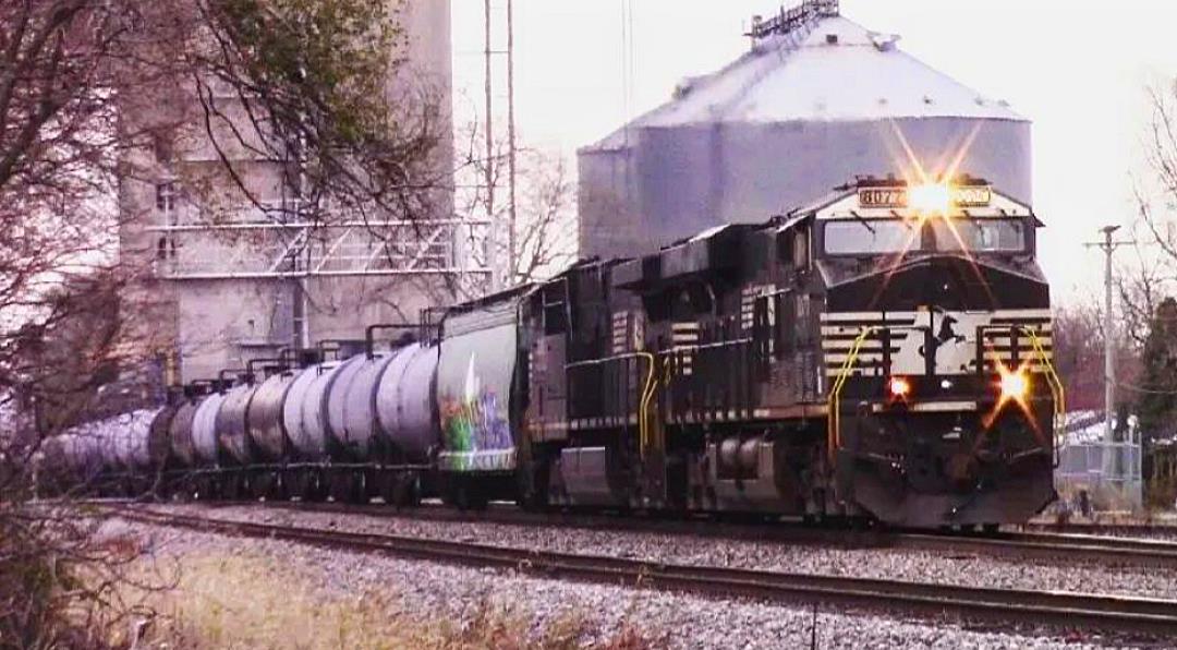
[[[1155,568],[1044,562],[970,552],[756,542],[631,530],[439,520],[393,513],[377,516],[288,508],[262,509],[253,505],[158,508],[230,520],[478,542],[673,564],[1177,599],[1177,571]]]

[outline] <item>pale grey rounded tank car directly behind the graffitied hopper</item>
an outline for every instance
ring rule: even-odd
[[[398,350],[375,391],[380,435],[407,460],[424,462],[441,444],[437,404],[438,349],[413,344]]]

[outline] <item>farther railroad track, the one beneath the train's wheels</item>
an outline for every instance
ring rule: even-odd
[[[217,509],[254,505],[292,511],[407,517],[451,522],[486,522],[507,525],[564,526],[585,530],[691,535],[723,539],[779,542],[790,544],[837,545],[855,549],[899,549],[940,553],[976,553],[1015,559],[1040,559],[1059,563],[1098,563],[1112,566],[1145,566],[1177,570],[1177,543],[1098,535],[1060,535],[1045,532],[998,532],[989,536],[902,530],[831,530],[805,526],[796,522],[733,523],[703,519],[656,519],[613,517],[601,513],[526,512],[516,506],[496,506],[480,512],[423,504],[420,508],[393,510],[384,505],[348,505],[335,503],[273,502],[198,502]]]

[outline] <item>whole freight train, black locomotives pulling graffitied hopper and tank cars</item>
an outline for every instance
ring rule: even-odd
[[[189,391],[145,436],[201,495],[1024,522],[1063,407],[1040,225],[980,180],[859,179]]]

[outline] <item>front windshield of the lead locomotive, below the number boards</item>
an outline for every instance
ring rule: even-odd
[[[918,221],[846,219],[825,225],[825,252],[831,256],[875,256],[903,252],[1019,253],[1026,248],[1020,219],[929,219]]]

